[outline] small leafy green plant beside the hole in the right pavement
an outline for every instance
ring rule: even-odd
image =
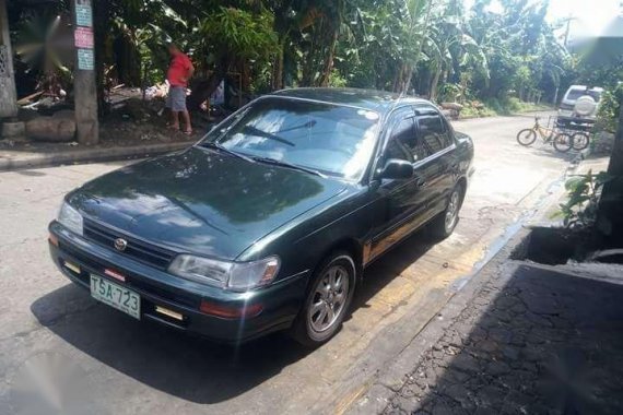
[[[609,180],[611,177],[604,171],[593,175],[588,170],[586,175],[574,176],[565,182],[568,200],[561,204],[560,211],[564,226],[595,224],[601,189]]]

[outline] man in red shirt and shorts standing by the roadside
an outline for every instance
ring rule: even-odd
[[[195,67],[176,45],[168,45],[168,52],[171,54],[171,64],[166,72],[169,85],[166,107],[171,109],[171,126],[173,129],[179,130],[179,112],[181,112],[186,124],[184,133],[190,135],[192,134],[192,127],[190,126],[190,115],[186,108],[186,87],[188,86],[188,80],[195,72]]]

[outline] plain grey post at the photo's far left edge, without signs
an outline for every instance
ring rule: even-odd
[[[0,118],[17,116],[17,93],[13,72],[13,52],[9,36],[7,1],[0,0]]]

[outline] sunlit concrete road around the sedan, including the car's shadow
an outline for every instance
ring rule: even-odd
[[[47,223],[67,191],[121,164],[0,174],[0,413],[31,396],[23,378],[37,379],[39,390],[75,392],[68,400],[89,401],[90,413],[343,412],[568,165],[549,146],[515,143],[530,122],[455,124],[477,149],[455,235],[436,246],[414,235],[371,266],[344,329],[314,352],[282,334],[237,349],[218,346],[140,324],[69,284],[48,259]],[[78,384],[55,378],[43,387],[58,368],[79,374],[67,377]]]

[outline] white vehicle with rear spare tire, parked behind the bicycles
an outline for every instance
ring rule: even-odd
[[[569,86],[559,107],[559,124],[595,123],[602,93],[602,87]]]

